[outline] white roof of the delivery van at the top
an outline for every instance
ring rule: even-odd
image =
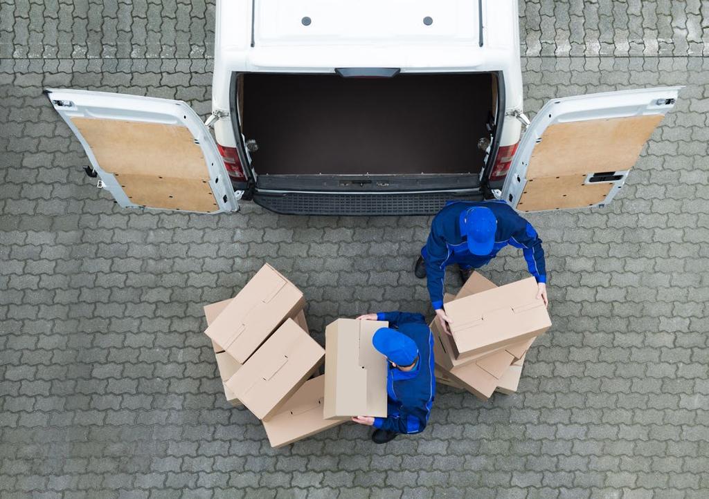
[[[216,22],[225,72],[519,64],[517,0],[218,0]]]

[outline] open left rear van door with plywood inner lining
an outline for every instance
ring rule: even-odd
[[[99,187],[122,207],[231,212],[238,199],[209,130],[183,101],[49,88]]]

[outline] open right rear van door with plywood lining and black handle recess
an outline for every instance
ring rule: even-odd
[[[520,140],[502,199],[522,212],[607,205],[680,88],[547,102]]]

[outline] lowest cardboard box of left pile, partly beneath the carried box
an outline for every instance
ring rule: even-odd
[[[323,418],[325,375],[308,379],[270,418],[263,421],[271,447],[283,447],[345,423]]]

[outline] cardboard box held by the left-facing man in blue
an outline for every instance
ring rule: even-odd
[[[337,319],[325,328],[325,419],[386,418],[386,357],[372,336],[386,321]]]

